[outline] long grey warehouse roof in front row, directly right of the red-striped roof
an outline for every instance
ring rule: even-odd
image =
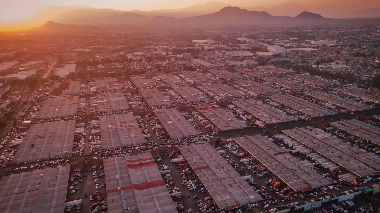
[[[220,209],[238,208],[261,200],[209,143],[182,146],[179,150]]]

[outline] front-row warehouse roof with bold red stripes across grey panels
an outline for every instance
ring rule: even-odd
[[[177,213],[149,152],[103,160],[108,212]]]

